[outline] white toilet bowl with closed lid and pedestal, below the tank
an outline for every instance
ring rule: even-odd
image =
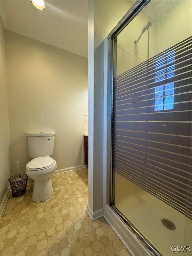
[[[26,165],[27,176],[34,180],[33,201],[45,201],[52,196],[51,175],[55,172],[56,168],[56,161],[49,156],[35,157]]]

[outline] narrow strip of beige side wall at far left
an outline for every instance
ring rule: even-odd
[[[5,30],[0,18],[0,204],[8,188],[9,168],[9,117],[7,74],[5,61]]]

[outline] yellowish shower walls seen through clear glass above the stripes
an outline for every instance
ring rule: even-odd
[[[160,17],[155,19],[150,17],[154,17],[153,7],[155,7],[154,3],[150,2],[118,35],[117,75],[147,60],[147,31],[144,32],[137,46],[135,46],[134,40],[139,37],[148,21],[152,23],[149,58],[191,36],[191,1],[172,1],[167,6],[164,6],[165,3],[159,6],[159,1],[156,3],[156,11],[162,14]],[[162,7],[164,9],[160,9]],[[184,13],[185,15],[183,15]]]

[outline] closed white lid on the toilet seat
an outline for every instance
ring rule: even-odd
[[[29,169],[47,168],[54,163],[54,159],[50,156],[36,157],[32,159],[26,167]]]

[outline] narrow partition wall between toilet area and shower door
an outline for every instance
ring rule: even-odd
[[[131,1],[89,1],[89,207],[103,208],[104,39]],[[92,119],[93,117],[93,119]]]

